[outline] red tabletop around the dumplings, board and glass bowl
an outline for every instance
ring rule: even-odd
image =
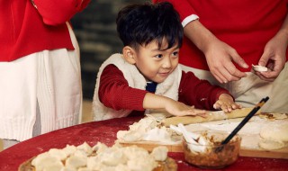
[[[25,160],[34,157],[49,148],[65,148],[69,145],[80,145],[86,141],[94,146],[97,141],[112,146],[118,130],[127,130],[128,126],[139,117],[127,117],[107,121],[93,121],[66,129],[55,130],[38,137],[25,140],[0,152],[0,170],[13,171]],[[196,167],[184,162],[183,153],[169,153],[176,160],[178,170],[195,170]],[[288,170],[287,159],[239,157],[236,163],[221,170]]]

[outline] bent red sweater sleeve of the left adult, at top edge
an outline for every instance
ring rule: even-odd
[[[81,12],[91,0],[31,0],[36,6],[43,22],[58,25],[69,21]]]

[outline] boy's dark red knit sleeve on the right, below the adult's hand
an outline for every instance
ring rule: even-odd
[[[211,85],[207,80],[199,79],[192,72],[182,72],[179,86],[180,102],[194,105],[198,109],[214,110],[213,104],[219,99],[220,94],[229,94],[229,91]]]

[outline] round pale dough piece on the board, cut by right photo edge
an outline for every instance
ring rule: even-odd
[[[288,121],[274,121],[266,124],[260,130],[260,136],[263,139],[288,141]]]

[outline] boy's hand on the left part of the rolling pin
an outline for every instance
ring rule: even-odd
[[[169,101],[169,103],[166,103],[165,109],[166,112],[169,112],[175,116],[198,115],[206,117],[205,110],[195,109],[193,106],[188,106],[184,103],[180,103],[174,100],[171,100]]]

